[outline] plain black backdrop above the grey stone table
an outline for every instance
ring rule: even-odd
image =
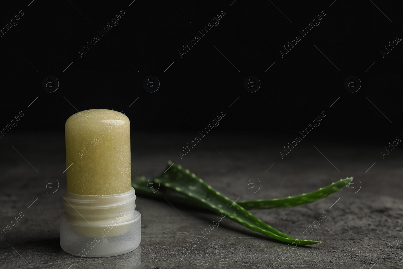
[[[0,37],[0,128],[23,111],[6,136],[62,132],[77,110],[107,108],[123,111],[132,132],[199,131],[221,111],[228,116],[219,131],[290,139],[322,111],[326,117],[311,138],[383,147],[403,131],[403,45],[399,42],[384,58],[380,53],[397,35],[403,36],[397,6],[342,0],[232,1],[3,3],[1,27],[19,10],[24,15]],[[120,10],[125,15],[118,25],[80,58],[81,46]],[[219,24],[181,58],[181,47],[221,10],[225,16]],[[326,15],[320,25],[282,58],[279,50],[322,10]],[[56,92],[42,88],[48,75],[60,82]],[[158,77],[158,91],[143,89],[148,75]],[[257,92],[243,88],[249,75],[261,81]],[[362,82],[358,92],[344,87],[350,75]]]

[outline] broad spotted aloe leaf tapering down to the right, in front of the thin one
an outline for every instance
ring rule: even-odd
[[[297,240],[291,236],[288,236],[287,234],[283,234],[282,232],[274,229],[270,225],[253,216],[242,206],[235,203],[235,201],[214,190],[202,179],[196,177],[195,174],[190,173],[188,169],[184,170],[180,165],[173,165],[171,162],[168,162],[168,165],[170,165],[169,169],[158,177],[160,189],[154,194],[160,192],[157,194],[158,196],[163,196],[167,199],[173,199],[175,201],[181,201],[191,205],[195,204],[199,207],[209,209],[217,214],[224,213],[226,215],[225,217],[228,217],[232,221],[282,242],[295,242],[296,244],[300,245],[320,243],[319,241],[312,240]],[[157,180],[154,179],[155,184],[156,181]],[[139,181],[132,183],[133,188],[137,188],[137,190],[144,192],[145,189],[147,189],[144,189],[144,185],[143,188],[138,188],[139,185]],[[156,186],[154,186],[154,189]],[[146,192],[152,191],[147,189]]]

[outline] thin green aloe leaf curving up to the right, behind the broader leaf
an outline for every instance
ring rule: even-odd
[[[330,184],[325,188],[320,188],[314,192],[307,194],[301,194],[298,196],[289,196],[286,198],[275,198],[275,199],[262,199],[262,200],[247,200],[238,201],[237,204],[242,206],[244,209],[272,209],[272,208],[287,208],[293,206],[301,206],[304,204],[309,204],[316,202],[330,194],[337,192],[344,187],[348,186],[353,177],[347,177],[345,179],[340,179],[337,182]]]

